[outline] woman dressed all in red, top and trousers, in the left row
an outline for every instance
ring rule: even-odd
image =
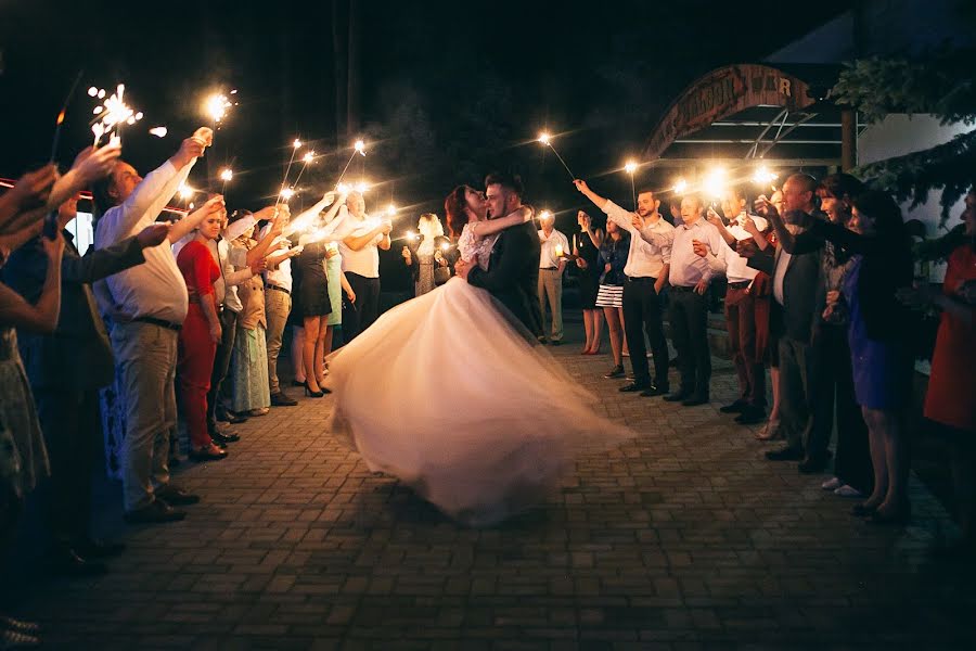
[[[190,430],[190,458],[211,461],[227,457],[227,450],[214,445],[207,432],[207,392],[214,357],[220,341],[220,318],[214,283],[220,278],[220,267],[207,242],[220,234],[226,213],[214,213],[197,228],[196,238],[183,246],[177,256],[177,267],[187,281],[190,310],[180,330],[179,371],[180,403]]]

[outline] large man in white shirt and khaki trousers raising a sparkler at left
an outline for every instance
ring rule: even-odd
[[[101,214],[95,248],[112,246],[154,224],[213,138],[210,129],[197,129],[145,179],[119,161],[112,175],[92,189]],[[125,394],[121,475],[127,522],[182,520],[187,513],[172,506],[200,501],[169,482],[167,465],[169,432],[177,419],[177,342],[189,304],[170,246],[222,205],[222,197],[216,197],[176,222],[163,244],[143,251],[145,264],[110,277],[100,293],[103,311],[115,320],[112,347]]]

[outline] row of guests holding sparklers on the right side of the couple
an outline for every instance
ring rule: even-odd
[[[619,391],[684,407],[708,403],[707,295],[723,278],[739,396],[720,411],[761,424],[760,441],[784,441],[766,452],[770,461],[795,461],[801,473],[832,470],[822,487],[860,498],[851,512],[873,524],[904,523],[911,514],[906,419],[917,310],[941,310],[924,416],[952,446],[963,536],[950,547],[976,551],[976,191],[966,196],[964,225],[938,241],[949,268],[935,291],[927,278],[914,278],[912,237],[898,204],[850,175],[796,174],[752,205],[730,188],[720,212],[688,194],[680,210],[670,204],[668,217],[651,190],[631,212],[586,181],[576,187],[606,215],[603,230],[580,213],[572,255],[563,258],[579,269],[581,353],[599,352],[593,317],[602,308],[613,355],[605,378],[624,378],[630,353],[632,372]],[[540,239],[551,237],[540,231]],[[677,387],[668,378],[665,318]]]

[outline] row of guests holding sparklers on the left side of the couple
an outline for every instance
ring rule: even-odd
[[[297,405],[278,376],[287,323],[296,380],[320,397],[334,332],[351,324],[348,342],[376,319],[390,224],[360,194],[329,192],[295,217],[281,202],[229,215],[210,194],[166,216],[211,142],[197,129],[145,178],[117,144],[89,148],[64,175],[47,165],[0,196],[0,556],[41,488],[52,570],[106,572],[125,548],[89,529],[103,441],[125,521],[182,520],[201,497],[170,478],[181,429],[190,459],[226,458],[240,439],[230,424]],[[85,189],[94,244],[82,256],[66,227]],[[3,648],[37,634],[0,617]]]

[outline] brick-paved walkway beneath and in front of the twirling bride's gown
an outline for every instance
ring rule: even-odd
[[[129,550],[110,575],[36,579],[17,612],[75,649],[976,642],[976,575],[929,560],[949,525],[924,487],[912,526],[869,527],[718,413],[728,362],[689,409],[618,394],[605,356],[552,350],[640,437],[503,526],[459,527],[368,472],[323,431],[330,399],[303,399],[240,427],[230,459],[181,469],[204,496],[185,522],[114,525]]]

